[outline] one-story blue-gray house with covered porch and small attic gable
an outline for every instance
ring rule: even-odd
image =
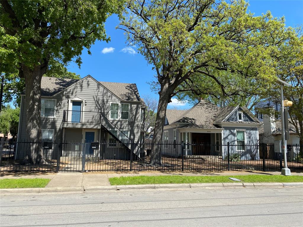
[[[258,126],[262,123],[247,107],[227,106],[220,108],[201,100],[189,110],[166,110],[163,129],[164,143],[188,144],[183,155],[227,155],[228,142],[234,145],[241,159],[259,159]],[[198,145],[203,146],[199,149]],[[205,146],[206,145],[206,146]],[[212,145],[212,146],[207,146]],[[252,145],[252,146],[250,146]],[[163,154],[167,150],[162,149]],[[172,156],[181,156],[180,146],[169,151]]]

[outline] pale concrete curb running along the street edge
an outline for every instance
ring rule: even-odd
[[[83,193],[91,191],[124,191],[134,189],[198,189],[198,188],[259,188],[259,187],[303,187],[303,182],[293,183],[192,183],[192,184],[141,184],[111,186],[78,186],[61,188],[11,188],[0,189],[0,194],[55,194]]]

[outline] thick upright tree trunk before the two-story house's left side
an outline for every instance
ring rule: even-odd
[[[41,79],[44,71],[40,65],[30,69],[22,67],[25,78],[26,139],[30,146],[26,151],[26,161],[43,164],[41,130]]]

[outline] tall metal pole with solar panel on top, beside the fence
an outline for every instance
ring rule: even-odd
[[[290,169],[287,167],[287,157],[286,157],[286,152],[287,152],[287,143],[285,140],[285,119],[284,117],[284,94],[283,94],[283,84],[287,86],[291,86],[290,84],[286,83],[285,81],[279,80],[278,81],[281,83],[281,148],[284,153],[284,168],[281,169],[281,175],[285,176],[290,176],[291,172]],[[287,108],[287,107],[286,107]]]

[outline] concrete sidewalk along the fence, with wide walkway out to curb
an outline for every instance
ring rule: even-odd
[[[120,176],[227,176],[227,175],[280,175],[281,172],[225,171],[225,172],[132,172],[132,173],[2,173],[0,179],[10,178],[47,178],[51,179],[46,188],[108,186],[108,178]],[[292,175],[303,176],[301,173]]]

